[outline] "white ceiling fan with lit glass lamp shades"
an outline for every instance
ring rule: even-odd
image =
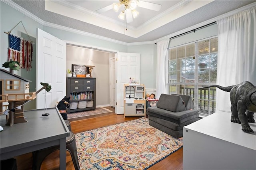
[[[123,10],[120,12],[118,18],[120,18],[121,20],[124,20],[126,18],[126,22],[130,23],[133,21],[133,18],[136,18],[138,14],[140,14],[138,11],[135,10],[137,6],[154,11],[159,11],[162,5],[141,0],[119,0],[118,3],[114,3],[106,7],[100,8],[96,10],[96,12],[103,13],[112,9],[115,12],[118,12],[118,10],[122,7],[121,9]]]

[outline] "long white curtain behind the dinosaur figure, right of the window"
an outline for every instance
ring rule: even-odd
[[[217,84],[250,81],[256,85],[256,7],[217,21]],[[217,89],[216,111],[230,112],[230,93]]]

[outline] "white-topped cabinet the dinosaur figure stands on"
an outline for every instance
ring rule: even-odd
[[[218,111],[183,127],[184,170],[256,169],[255,123],[249,123],[254,133],[246,133],[230,119]]]

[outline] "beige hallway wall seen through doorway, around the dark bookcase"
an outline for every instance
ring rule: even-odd
[[[86,65],[88,59],[91,59],[94,66],[92,69],[92,77],[96,78],[96,107],[115,107],[115,98],[110,100],[110,97],[115,96],[115,91],[111,92],[111,77],[115,80],[115,72],[111,71],[110,58],[115,57],[115,52],[94,49],[81,44],[67,42],[67,62],[66,69],[71,70],[72,64]],[[115,65],[114,65],[115,66]],[[114,82],[114,81],[113,81]],[[113,84],[113,83],[112,83]]]

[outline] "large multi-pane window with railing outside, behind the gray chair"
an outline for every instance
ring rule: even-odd
[[[169,50],[169,94],[190,95],[200,114],[216,110],[218,37],[187,43]]]

